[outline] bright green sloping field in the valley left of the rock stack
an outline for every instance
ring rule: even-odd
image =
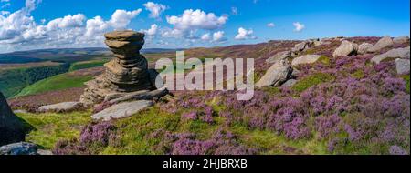
[[[84,86],[84,82],[92,79],[93,76],[70,76],[67,73],[58,76],[48,77],[33,85],[25,87],[16,97],[35,95],[47,91],[56,91],[72,87]]]

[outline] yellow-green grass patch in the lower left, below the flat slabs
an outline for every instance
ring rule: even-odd
[[[91,118],[90,112],[70,114],[17,114],[26,121],[32,130],[26,141],[35,143],[41,148],[51,149],[58,140],[70,140],[79,137],[80,130]]]

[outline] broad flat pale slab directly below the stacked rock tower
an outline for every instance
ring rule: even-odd
[[[118,105],[113,105],[109,108],[92,116],[95,120],[109,121],[111,119],[119,119],[124,117],[131,117],[132,115],[142,111],[147,107],[152,107],[153,101],[139,100],[134,102],[124,102]]]

